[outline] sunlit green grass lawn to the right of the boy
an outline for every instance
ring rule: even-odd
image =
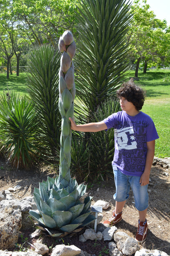
[[[128,76],[134,76],[134,71]],[[159,135],[155,155],[159,158],[170,157],[170,69],[154,69],[146,74],[139,71],[138,76],[136,85],[146,91],[142,111],[153,119]]]

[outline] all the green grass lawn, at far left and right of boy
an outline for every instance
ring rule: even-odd
[[[134,76],[134,71],[127,72],[125,79]],[[16,91],[20,95],[26,94],[26,73],[9,75],[0,74],[0,94],[3,91]],[[156,140],[155,155],[159,158],[170,157],[170,69],[154,69],[139,71],[139,81],[136,85],[146,91],[146,99],[142,111],[154,121],[159,134]]]

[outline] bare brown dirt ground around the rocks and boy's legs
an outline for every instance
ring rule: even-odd
[[[47,180],[47,176],[53,177],[55,170],[51,167],[44,166],[38,167],[34,170],[16,170],[7,165],[3,159],[0,159],[0,190],[7,190],[9,187],[15,187],[21,185],[21,189],[17,192],[11,192],[14,198],[22,199],[29,195],[33,195],[34,187],[39,187],[39,182]],[[93,197],[92,204],[97,200],[104,200],[110,202],[110,207],[107,210],[103,210],[103,220],[112,215],[115,202],[113,194],[115,192],[114,180],[101,181],[96,184],[88,184],[87,192]],[[170,168],[163,168],[157,162],[152,166],[150,174],[150,184],[148,185],[149,192],[149,208],[147,213],[148,220],[148,237],[143,243],[143,247],[146,249],[158,249],[166,252],[170,255]],[[132,191],[130,191],[130,197],[125,204],[123,210],[123,220],[116,226],[119,231],[124,231],[128,235],[134,237],[138,224],[138,211],[134,207],[134,198]],[[23,238],[29,238],[29,233],[34,232],[32,230],[26,230],[23,232]],[[52,249],[58,244],[64,243],[65,245],[75,245],[78,248],[86,251],[89,254],[95,256],[108,255],[108,242],[91,241],[87,240],[85,243],[79,241],[79,235],[72,238],[55,239],[42,234],[43,242]],[[18,243],[22,243],[18,241]],[[28,241],[34,245],[36,239],[28,239]],[[33,249],[29,244],[25,243],[25,247]],[[24,246],[23,246],[24,248]],[[45,256],[49,256],[51,250]]]

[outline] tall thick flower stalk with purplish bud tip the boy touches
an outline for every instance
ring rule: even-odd
[[[69,117],[74,114],[74,64],[73,57],[76,52],[76,43],[71,31],[67,30],[60,37],[58,48],[62,54],[59,71],[59,111],[62,117],[60,136],[60,175],[59,181],[67,186],[70,181],[72,130]]]

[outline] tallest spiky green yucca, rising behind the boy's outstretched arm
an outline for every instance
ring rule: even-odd
[[[79,0],[81,51],[77,95],[88,110],[86,121],[107,98],[114,98],[128,67],[126,34],[130,27],[130,4],[125,0]]]

